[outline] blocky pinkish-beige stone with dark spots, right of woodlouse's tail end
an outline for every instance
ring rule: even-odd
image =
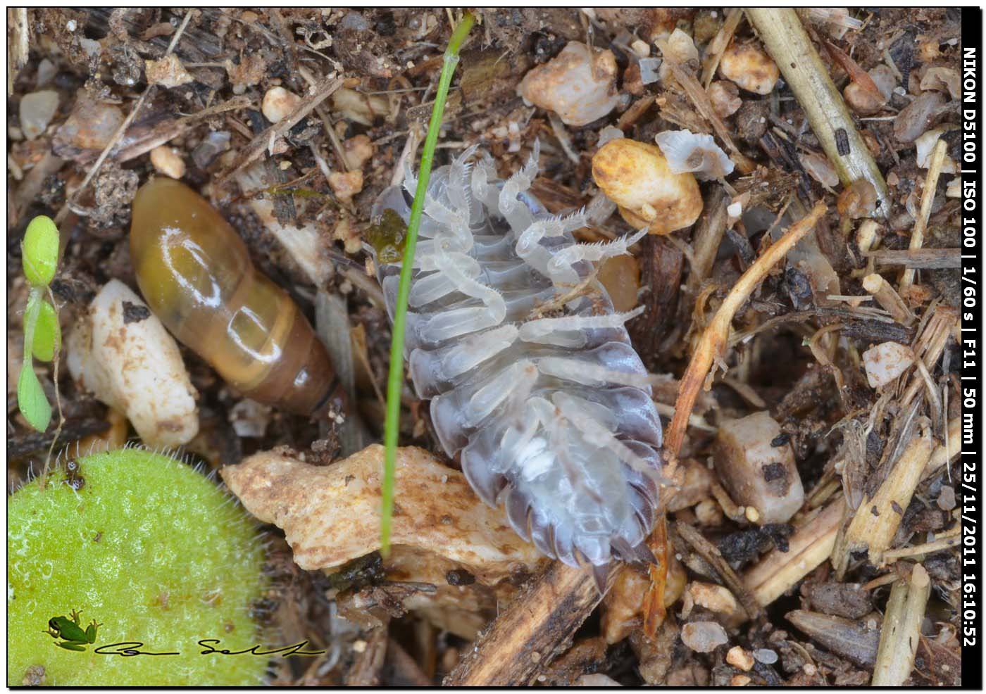
[[[737,504],[760,524],[791,520],[805,501],[791,444],[766,412],[727,421],[715,444],[716,470]]]

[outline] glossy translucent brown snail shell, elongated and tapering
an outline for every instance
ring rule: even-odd
[[[148,306],[226,382],[298,414],[341,408],[312,326],[198,193],[166,177],[145,183],[133,201],[130,253]]]

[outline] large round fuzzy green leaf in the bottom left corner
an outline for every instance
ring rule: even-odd
[[[257,621],[269,587],[255,523],[168,455],[120,449],[53,467],[43,488],[8,498],[7,549],[10,685],[41,667],[65,687],[256,686],[270,657],[248,650],[281,645]],[[204,639],[246,653],[202,655]]]

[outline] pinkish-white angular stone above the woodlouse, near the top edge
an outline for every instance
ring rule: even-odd
[[[566,125],[581,126],[606,115],[619,103],[616,58],[569,41],[550,62],[528,72],[517,88],[525,102],[558,114]]]

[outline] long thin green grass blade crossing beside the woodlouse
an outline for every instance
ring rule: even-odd
[[[414,203],[411,205],[411,218],[407,224],[407,238],[404,245],[404,256],[400,266],[400,282],[397,285],[397,304],[393,310],[393,332],[390,338],[390,371],[387,375],[387,419],[384,428],[384,445],[387,447],[384,458],[384,483],[381,489],[382,505],[380,519],[381,553],[384,556],[390,551],[390,518],[393,514],[393,484],[397,462],[397,434],[400,425],[400,391],[404,383],[404,326],[407,314],[407,296],[411,291],[411,267],[414,264],[414,248],[418,241],[418,227],[421,225],[421,212],[425,204],[425,191],[428,189],[428,179],[431,177],[432,160],[435,156],[435,145],[438,144],[439,131],[442,129],[442,114],[445,111],[445,101],[449,96],[449,85],[458,64],[458,49],[465,36],[472,29],[474,18],[471,13],[465,13],[458,23],[449,46],[445,49],[445,62],[439,77],[438,91],[435,94],[435,105],[432,108],[431,120],[428,122],[428,135],[421,152],[421,166],[418,169],[418,188],[414,193]]]

